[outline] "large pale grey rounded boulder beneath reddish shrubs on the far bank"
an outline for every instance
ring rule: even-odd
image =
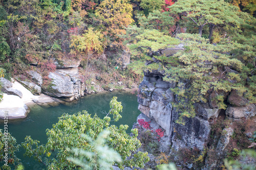
[[[69,76],[59,72],[50,72],[48,77],[52,81],[51,84],[42,88],[45,94],[56,98],[74,98],[74,83]]]

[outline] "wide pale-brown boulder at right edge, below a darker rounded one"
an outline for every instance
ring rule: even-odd
[[[229,106],[226,110],[226,115],[231,118],[248,118],[251,116],[255,116],[256,106],[254,104],[240,107]]]

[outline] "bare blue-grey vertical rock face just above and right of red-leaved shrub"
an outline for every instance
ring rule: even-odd
[[[176,151],[184,147],[202,150],[210,133],[208,119],[217,117],[219,109],[204,108],[201,104],[196,104],[197,116],[184,118],[185,125],[177,124],[175,120],[179,115],[171,104],[176,97],[170,90],[177,84],[165,82],[162,78],[160,72],[145,72],[139,86],[138,109],[165,130],[165,137]]]

